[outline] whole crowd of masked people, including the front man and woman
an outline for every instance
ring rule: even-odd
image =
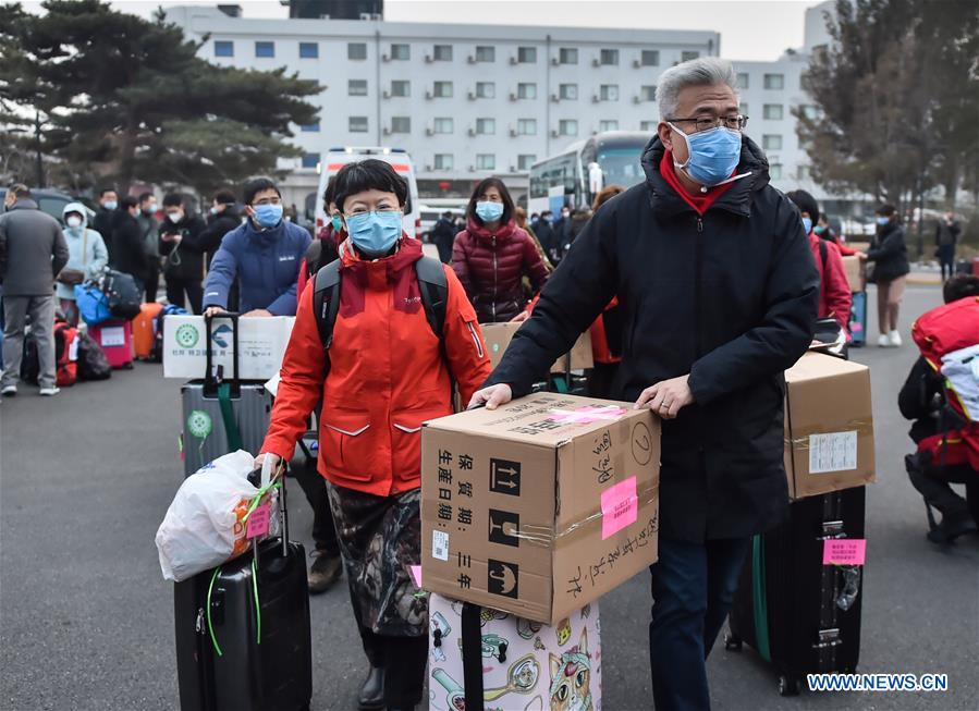
[[[421,701],[427,657],[426,601],[408,574],[421,555],[421,422],[453,412],[452,383],[463,403],[490,409],[527,394],[591,329],[592,394],[663,419],[656,704],[708,708],[705,660],[751,536],[787,511],[782,373],[810,347],[818,319],[846,333],[852,297],[846,246],[811,195],[769,184],[736,84],[715,58],[665,71],[645,182],[528,221],[502,181],[484,180],[462,229],[448,212],[436,224],[440,260],[404,232],[407,186],[380,160],[346,164],[329,182],[329,222],[314,238],[284,219],[267,179],[245,186],[241,212],[233,194],[216,194],[207,220],[167,195],[159,223],[152,195],[106,189],[90,228],[72,204],[63,230],[15,187],[0,222],[3,393],[16,389],[25,315],[47,328],[57,281],[61,310],[76,319],[69,284],[106,265],[132,274],[147,299],[162,271],[168,301],[195,314],[295,315],[256,464],[292,459],[319,413],[318,461],[303,475],[316,512],[310,588],[345,573],[367,660],[357,703],[393,711]],[[877,216],[859,256],[877,283],[879,344],[897,346],[905,236],[893,206]],[[940,247],[951,234],[940,225]],[[491,372],[480,323],[501,321],[525,323]],[[902,394],[903,410],[923,416],[911,400]],[[959,508],[950,515],[956,531]]]

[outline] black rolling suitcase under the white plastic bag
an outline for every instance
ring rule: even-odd
[[[313,698],[306,553],[265,541],[174,584],[176,672],[182,711],[303,711]],[[257,561],[257,562],[256,562]]]

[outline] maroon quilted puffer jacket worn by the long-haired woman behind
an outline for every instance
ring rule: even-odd
[[[535,293],[548,280],[534,240],[513,221],[492,234],[469,218],[466,229],[455,236],[452,268],[480,323],[509,321],[524,310],[525,275],[530,278]]]

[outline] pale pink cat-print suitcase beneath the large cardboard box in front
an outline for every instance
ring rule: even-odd
[[[431,593],[431,711],[601,711],[598,603],[549,627]]]

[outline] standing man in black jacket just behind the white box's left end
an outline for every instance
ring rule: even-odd
[[[163,197],[160,254],[167,257],[163,266],[167,301],[189,308],[194,314],[200,314],[204,298],[204,247],[200,235],[205,228],[200,217],[188,214],[180,195],[171,193]]]

